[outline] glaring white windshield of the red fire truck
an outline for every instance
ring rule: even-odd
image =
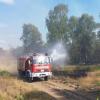
[[[34,64],[49,64],[50,60],[48,56],[37,56],[33,58]]]

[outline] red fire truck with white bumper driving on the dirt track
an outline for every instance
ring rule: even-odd
[[[18,72],[29,80],[43,78],[45,81],[52,76],[51,57],[48,54],[32,54],[18,59]]]

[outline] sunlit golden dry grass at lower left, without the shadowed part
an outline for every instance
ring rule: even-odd
[[[5,100],[14,100],[17,95],[23,94],[25,91],[32,91],[32,87],[11,77],[0,77],[0,95]]]

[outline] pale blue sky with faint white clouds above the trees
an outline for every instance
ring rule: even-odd
[[[34,24],[46,41],[45,18],[57,4],[68,5],[68,16],[92,15],[100,22],[100,0],[0,0],[0,47],[4,49],[21,46],[20,37],[24,23]]]

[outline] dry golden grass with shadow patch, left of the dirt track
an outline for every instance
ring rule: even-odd
[[[0,77],[0,100],[55,100],[16,77]]]

